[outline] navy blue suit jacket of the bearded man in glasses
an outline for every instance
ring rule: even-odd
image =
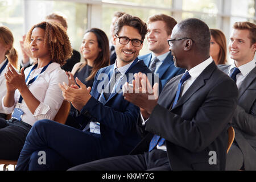
[[[81,114],[86,118],[84,119],[85,123],[90,121],[100,122],[101,134],[99,137],[101,137],[102,143],[104,143],[104,147],[102,147],[104,151],[102,152],[104,152],[105,156],[127,155],[141,140],[136,131],[139,107],[126,101],[122,96],[122,92],[112,93],[105,104],[98,101],[104,86],[106,86],[103,83],[109,82],[113,68],[114,65],[109,65],[97,72],[90,92],[92,97],[81,110]],[[131,82],[134,73],[138,72],[152,73],[143,61],[138,61],[126,73],[128,81]],[[101,73],[104,73],[105,76],[108,75],[105,81],[102,80]],[[132,73],[130,77],[129,73]],[[120,91],[122,90],[120,89]]]

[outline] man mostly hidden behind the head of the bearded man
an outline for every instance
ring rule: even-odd
[[[115,60],[117,59],[117,54],[115,53],[115,46],[114,46],[114,27],[115,27],[115,22],[117,22],[118,18],[120,18],[122,15],[124,15],[125,12],[117,11],[114,13],[114,16],[112,18],[112,22],[110,25],[110,64],[114,64]]]

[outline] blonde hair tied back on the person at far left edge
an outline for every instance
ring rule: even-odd
[[[9,49],[6,51],[5,55],[10,61],[10,63],[18,69],[18,52],[13,47],[14,38],[13,33],[11,30],[6,26],[0,26],[0,42],[5,45],[9,46]]]

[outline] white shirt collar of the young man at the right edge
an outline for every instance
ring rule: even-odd
[[[237,87],[239,88],[245,80],[245,77],[255,68],[255,60],[251,60],[249,63],[243,64],[238,69],[241,71],[240,73],[237,74]],[[229,73],[228,75],[231,75],[233,72],[234,68],[236,67],[236,64],[233,62],[230,66]]]

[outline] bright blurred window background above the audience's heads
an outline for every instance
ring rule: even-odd
[[[237,21],[255,23],[256,0],[0,0],[0,25],[14,34],[14,47],[20,57],[19,40],[32,25],[44,20],[46,15],[60,12],[67,17],[68,35],[72,47],[79,50],[86,29],[101,28],[110,37],[110,24],[115,11],[138,16],[144,21],[148,16],[164,13],[177,22],[185,18],[199,18],[209,28],[222,30],[229,41],[232,25]],[[141,55],[148,53],[145,41]],[[229,56],[228,56],[229,57]],[[229,60],[230,61],[230,60]]]

